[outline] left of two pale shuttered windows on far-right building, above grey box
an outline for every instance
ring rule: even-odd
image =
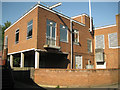
[[[104,49],[104,35],[95,36],[95,48]]]

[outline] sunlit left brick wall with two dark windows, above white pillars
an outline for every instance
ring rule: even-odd
[[[18,52],[26,49],[37,48],[37,21],[38,8],[35,8],[15,25],[8,29],[4,37],[8,35],[8,53]],[[33,20],[32,38],[27,40],[27,23]],[[19,43],[15,44],[15,32],[19,28]],[[5,38],[4,38],[5,39]],[[5,40],[4,40],[5,41]]]

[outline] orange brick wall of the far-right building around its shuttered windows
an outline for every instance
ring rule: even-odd
[[[120,15],[119,15],[120,16]],[[118,28],[118,15],[116,15],[116,26],[107,27],[107,28],[100,28],[95,30],[95,36],[97,35],[104,35],[104,43],[105,43],[105,61],[106,61],[106,67],[107,68],[118,68],[119,63],[119,49],[118,48],[109,48],[109,41],[108,41],[108,34],[110,33],[116,33],[118,36],[118,45],[119,43],[119,32],[120,27]],[[95,42],[94,42],[95,45]]]

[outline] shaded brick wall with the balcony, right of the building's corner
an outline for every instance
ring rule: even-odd
[[[37,48],[38,49],[43,49],[43,46],[46,43],[46,20],[52,20],[54,22],[56,22],[57,24],[57,33],[56,33],[56,37],[57,37],[57,42],[59,42],[60,40],[60,24],[64,25],[64,23],[67,25],[68,27],[68,42],[59,42],[57,43],[57,46],[61,47],[61,51],[62,52],[67,52],[69,54],[68,59],[71,61],[71,35],[70,35],[70,20],[58,16],[54,13],[51,13],[47,10],[44,10],[42,8],[38,9],[38,35],[37,35],[37,39],[38,39],[38,43],[37,43]],[[90,32],[88,31],[89,28],[89,18],[87,16],[83,16],[84,21],[86,24],[85,26],[82,26],[80,24],[77,24],[75,22],[73,22],[73,29],[77,29],[79,31],[79,43],[80,45],[73,45],[73,68],[75,68],[75,55],[82,55],[83,56],[83,68],[85,68],[86,64],[85,64],[85,60],[90,59],[91,60],[91,64],[94,64],[94,41],[93,41],[93,37],[91,36]],[[80,18],[80,17],[79,17]],[[79,21],[79,18],[78,21]],[[76,19],[76,20],[77,20]],[[80,22],[80,21],[79,21]],[[92,40],[92,53],[88,53],[87,51],[87,39],[91,39]],[[68,66],[68,68],[70,68],[70,65]]]

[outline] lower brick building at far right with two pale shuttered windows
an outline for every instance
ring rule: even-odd
[[[95,29],[96,68],[120,67],[120,15],[116,15],[116,24]]]

